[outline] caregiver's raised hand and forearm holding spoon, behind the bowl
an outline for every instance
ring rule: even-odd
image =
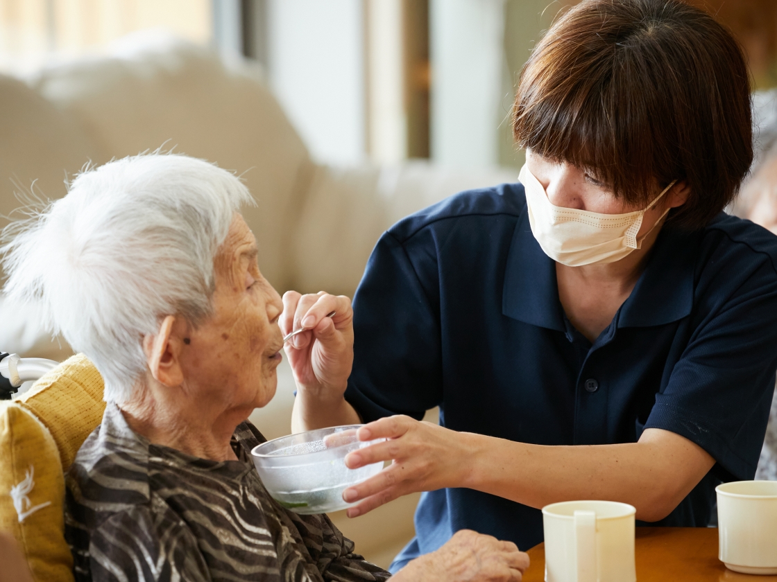
[[[333,317],[326,317],[333,311]],[[354,363],[350,299],[324,292],[300,295],[287,291],[279,324],[284,336],[301,328],[308,330],[284,345],[297,385],[291,431],[361,424],[354,407],[343,397]]]

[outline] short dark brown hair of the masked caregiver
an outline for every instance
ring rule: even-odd
[[[723,210],[753,158],[742,50],[680,0],[580,2],[532,52],[513,115],[517,144],[588,168],[629,203],[685,179],[670,220],[688,228]]]

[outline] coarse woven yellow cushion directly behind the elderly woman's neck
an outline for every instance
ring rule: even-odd
[[[83,354],[68,358],[16,400],[35,414],[54,437],[62,470],[103,420],[103,376]]]

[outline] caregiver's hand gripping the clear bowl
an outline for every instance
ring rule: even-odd
[[[471,469],[466,436],[437,424],[416,421],[407,416],[392,416],[365,424],[358,431],[359,440],[387,438],[348,454],[350,469],[378,461],[392,461],[378,475],[343,491],[343,499],[360,504],[349,508],[349,518],[355,518],[416,491],[431,491],[443,487],[458,487]]]

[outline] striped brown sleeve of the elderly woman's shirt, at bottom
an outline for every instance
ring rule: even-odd
[[[172,515],[152,518],[144,506],[113,514],[92,531],[89,565],[94,582],[211,580],[190,529]]]

